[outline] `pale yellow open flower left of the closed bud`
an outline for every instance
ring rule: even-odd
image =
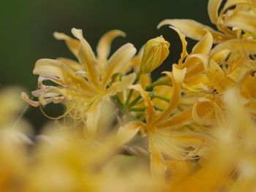
[[[89,43],[83,38],[82,31],[72,28],[72,34],[77,39],[59,33],[55,33],[54,36],[57,39],[64,39],[79,63],[64,58],[40,59],[33,71],[39,75],[39,90],[32,92],[39,101],[29,100],[25,93],[23,99],[34,107],[45,106],[50,102],[63,102],[67,107],[64,116],[86,122],[87,134],[89,138],[94,139],[101,101],[124,91],[135,80],[135,74],[128,74],[117,82],[113,82],[111,77],[124,68],[135,55],[136,49],[127,43],[108,59],[113,38],[124,36],[122,31],[114,30],[99,40],[96,58]],[[50,80],[57,86],[44,85],[45,80]]]

